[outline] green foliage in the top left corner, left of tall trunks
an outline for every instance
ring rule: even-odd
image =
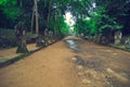
[[[13,28],[16,17],[21,13],[21,9],[16,5],[17,0],[0,0],[0,24],[2,27]],[[9,23],[6,25],[6,23]]]

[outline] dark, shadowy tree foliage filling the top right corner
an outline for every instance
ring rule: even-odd
[[[117,0],[110,0],[110,1],[96,0],[98,7],[101,7],[101,5],[104,7],[105,14],[108,15],[108,22],[110,24],[113,23],[113,25],[108,27],[115,30],[120,28],[123,33],[126,30],[127,33],[130,33],[130,30],[126,29],[129,25],[129,22],[127,21],[129,20],[128,15],[130,14],[128,13],[129,9],[127,7],[129,5],[129,3],[130,3],[129,0],[118,0],[118,1]],[[106,27],[106,26],[103,26],[103,27]]]

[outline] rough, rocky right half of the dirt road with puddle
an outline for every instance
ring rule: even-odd
[[[130,52],[68,39],[81,87],[130,87]]]

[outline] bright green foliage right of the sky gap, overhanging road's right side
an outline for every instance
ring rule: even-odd
[[[109,2],[113,2],[113,1],[109,1]],[[108,14],[109,3],[107,1],[106,3],[107,3],[106,5],[102,3],[101,5],[98,5],[93,10],[89,10],[88,15],[86,16],[89,16],[90,20],[83,20],[86,18],[86,16],[77,18],[75,30],[78,32],[79,34],[83,33],[83,34],[93,35],[95,33],[102,33],[102,30],[104,29],[112,29],[112,30],[121,29],[122,25],[120,25],[117,22],[117,16],[110,16]],[[90,3],[90,7],[92,3]],[[78,13],[80,14],[81,12],[78,12]]]

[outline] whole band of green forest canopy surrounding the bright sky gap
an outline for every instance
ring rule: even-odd
[[[64,15],[75,17],[74,33],[100,34],[104,29],[130,34],[130,0],[36,0],[39,30],[69,33]],[[22,21],[30,30],[35,0],[0,0],[0,27],[14,28]],[[88,20],[89,18],[89,20]]]

